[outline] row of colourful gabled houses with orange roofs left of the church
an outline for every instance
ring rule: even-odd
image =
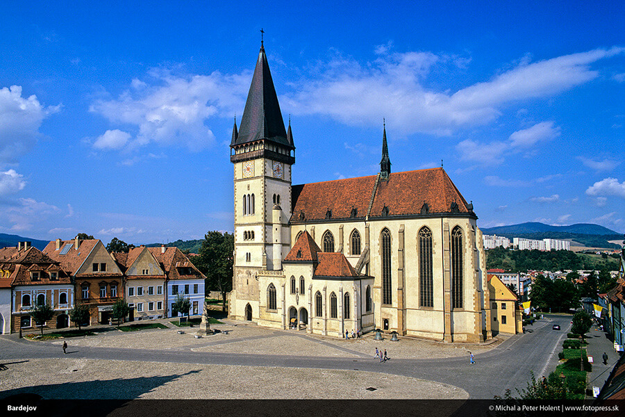
[[[204,275],[177,247],[135,247],[109,253],[99,239],[53,240],[43,251],[30,243],[0,249],[0,329],[2,334],[33,329],[33,306],[49,304],[46,325],[69,327],[69,311],[88,307],[88,325],[109,324],[113,304],[125,300],[128,320],[172,317],[178,294],[201,313]]]

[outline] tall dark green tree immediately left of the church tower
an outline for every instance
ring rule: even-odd
[[[191,261],[206,275],[206,291],[222,293],[222,310],[226,311],[226,293],[232,291],[234,235],[227,231],[209,231],[199,255]]]

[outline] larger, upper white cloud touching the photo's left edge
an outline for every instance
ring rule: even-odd
[[[42,121],[60,106],[45,107],[35,95],[22,97],[22,87],[0,89],[0,163],[15,163],[37,142]]]

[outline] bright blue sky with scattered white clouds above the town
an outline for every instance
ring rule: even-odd
[[[618,1],[3,1],[0,233],[233,230],[233,119],[265,49],[293,183],[443,161],[478,225],[625,231]]]

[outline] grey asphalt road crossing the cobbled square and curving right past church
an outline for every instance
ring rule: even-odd
[[[333,370],[360,370],[426,379],[458,386],[470,398],[492,399],[503,396],[506,389],[513,395],[515,389],[526,388],[533,372],[536,377],[548,375],[558,362],[562,340],[570,327],[570,316],[548,316],[528,326],[526,334],[508,338],[489,352],[476,354],[476,364],[468,357],[451,359],[391,359],[379,363],[372,359],[353,357],[301,357],[276,354],[234,354],[193,352],[191,350],[137,350],[115,347],[81,346],[72,352],[72,358],[151,361],[164,363],[199,363],[239,366],[275,366],[289,368],[317,368]],[[559,324],[560,331],[553,330]],[[58,348],[50,343],[32,343],[15,338],[0,338],[0,362],[20,359],[62,358]]]

